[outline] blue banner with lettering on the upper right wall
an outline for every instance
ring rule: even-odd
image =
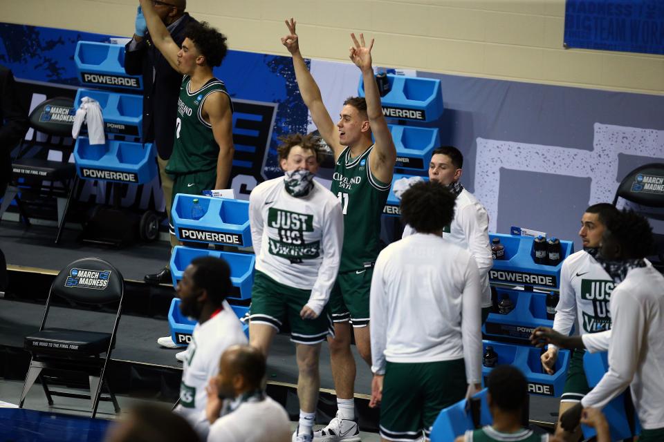
[[[664,54],[664,1],[566,0],[564,45]]]

